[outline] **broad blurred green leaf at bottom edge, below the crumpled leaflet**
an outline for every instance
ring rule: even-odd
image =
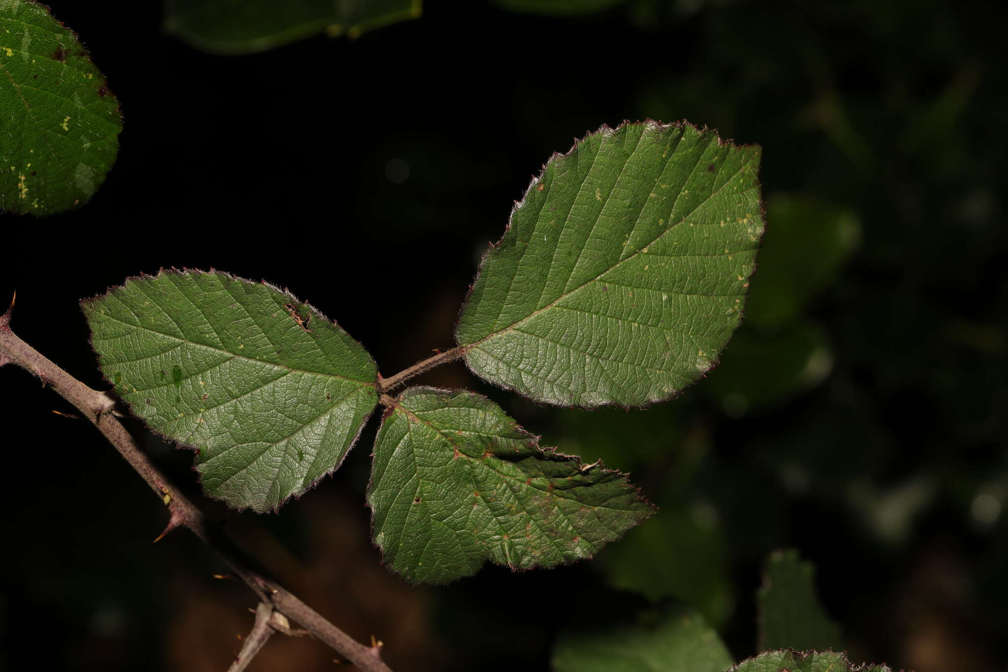
[[[666,607],[605,626],[561,633],[553,672],[724,672],[733,662],[718,633],[689,610]]]

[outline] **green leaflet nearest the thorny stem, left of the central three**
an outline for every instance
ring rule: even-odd
[[[265,283],[162,270],[82,307],[117,394],[196,446],[207,493],[240,509],[277,509],[334,471],[377,402],[361,345]]]

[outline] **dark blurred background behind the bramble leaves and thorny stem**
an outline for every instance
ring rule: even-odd
[[[630,0],[548,17],[429,0],[357,40],[240,57],[162,34],[155,3],[50,4],[125,130],[90,204],[2,216],[0,301],[16,288],[14,330],[96,387],[77,301],[129,275],[215,267],[287,286],[388,376],[454,345],[479,254],[575,136],[688,119],[763,146],[753,292],[773,277],[764,304],[808,295],[747,322],[709,380],[589,414],[459,364],[417,379],[489,394],[547,444],[632,473],[662,511],[597,560],[406,586],[369,541],[373,424],[277,515],[206,502],[295,593],[382,639],[394,669],[546,669],[557,631],[617,603],[615,588],[696,606],[742,659],[760,564],[782,546],[816,563],[855,659],[1006,669],[1008,87],[993,3]],[[0,399],[0,668],[226,669],[252,594],[212,578],[221,567],[184,532],[151,545],[163,507],[92,427],[50,412],[70,409],[37,380],[3,368]],[[190,453],[147,448],[205,502]],[[331,659],[274,638],[252,669]]]

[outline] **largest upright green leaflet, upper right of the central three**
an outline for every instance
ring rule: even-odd
[[[759,155],[651,121],[554,155],[463,307],[470,368],[588,408],[661,401],[703,376],[739,323],[763,233]]]

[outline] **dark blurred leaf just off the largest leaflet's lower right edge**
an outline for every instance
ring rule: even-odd
[[[814,322],[806,320],[769,334],[741,328],[704,391],[726,413],[739,417],[786,402],[822,383],[832,370],[829,338]]]

